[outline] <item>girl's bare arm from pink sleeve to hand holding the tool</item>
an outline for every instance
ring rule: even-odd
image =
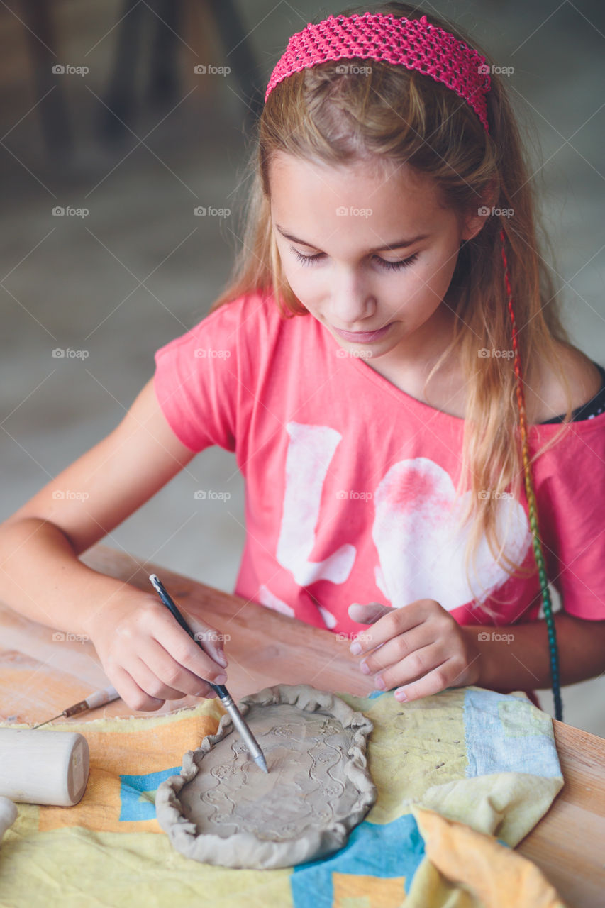
[[[78,556],[193,457],[165,419],[151,379],[113,432],[0,524],[3,601],[49,627],[90,637],[133,709],[213,696],[203,679],[221,683],[222,646],[210,634],[204,653],[155,593],[87,568]]]

